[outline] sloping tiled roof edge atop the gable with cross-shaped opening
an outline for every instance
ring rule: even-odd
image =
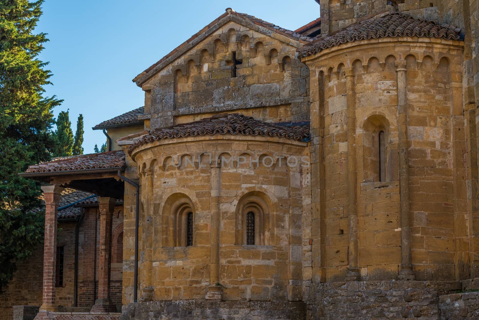
[[[162,57],[159,61],[151,65],[148,69],[138,74],[135,77],[135,79],[133,79],[133,82],[136,82],[138,86],[141,86],[143,82],[148,80],[157,71],[160,71],[161,69],[166,67],[174,59],[180,57],[186,51],[188,51],[193,46],[195,46],[196,44],[204,40],[207,36],[213,34],[221,26],[225,25],[229,21],[239,23],[254,31],[260,32],[262,34],[271,35],[271,33],[274,32],[277,34],[284,35],[285,37],[288,37],[289,39],[292,40],[288,44],[291,46],[295,46],[297,48],[303,46],[303,44],[307,44],[314,40],[313,38],[309,38],[301,34],[298,34],[294,31],[281,28],[280,26],[277,26],[273,23],[266,22],[252,15],[236,12],[232,10],[231,8],[227,8],[226,12],[220,15],[217,19],[215,19],[214,21],[206,25],[203,29],[201,29],[196,34],[192,35],[188,40],[183,42],[180,46],[177,46],[169,54]]]

